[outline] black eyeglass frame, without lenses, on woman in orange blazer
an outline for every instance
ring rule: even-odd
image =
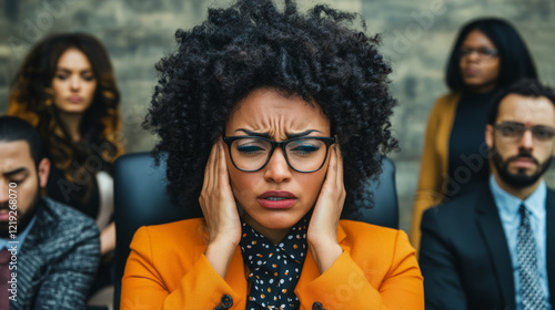
[[[233,161],[233,156],[231,155],[231,145],[233,144],[233,142],[241,140],[241,138],[260,138],[260,140],[263,140],[265,142],[269,142],[270,145],[272,146],[272,149],[270,149],[270,153],[268,155],[266,162],[260,168],[252,169],[252,170],[242,169],[242,168],[238,167],[238,165],[235,164],[235,161]],[[317,169],[310,170],[310,172],[299,170],[299,169],[295,169],[293,166],[291,166],[291,163],[289,162],[289,158],[287,158],[287,152],[285,152],[285,146],[289,143],[294,142],[294,141],[299,141],[299,140],[305,140],[305,138],[319,140],[319,141],[324,142],[324,144],[325,144],[324,162],[322,162],[322,165],[320,165],[320,167],[317,167]],[[268,165],[268,163],[272,158],[272,155],[274,154],[275,148],[281,147],[281,149],[283,151],[283,157],[285,157],[285,162],[287,163],[287,166],[297,173],[306,173],[307,174],[307,173],[317,172],[324,166],[325,161],[327,159],[327,152],[330,151],[330,146],[335,143],[335,138],[330,137],[330,136],[299,136],[299,137],[293,137],[293,138],[281,141],[281,142],[275,142],[275,141],[272,141],[272,140],[266,138],[266,137],[246,135],[246,136],[223,136],[223,142],[225,144],[228,144],[228,148],[230,151],[231,163],[233,163],[233,166],[239,170],[246,172],[246,173],[254,173],[254,172],[261,170],[262,168],[264,168]]]

